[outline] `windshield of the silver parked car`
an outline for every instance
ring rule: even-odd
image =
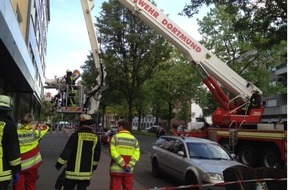
[[[230,155],[219,145],[210,143],[187,143],[190,158],[231,160]]]

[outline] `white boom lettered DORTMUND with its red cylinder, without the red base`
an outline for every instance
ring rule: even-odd
[[[192,66],[199,66],[199,70],[201,68],[206,73],[208,78],[204,79],[204,83],[219,101],[222,108],[227,110],[228,115],[233,114],[238,108],[233,105],[232,100],[221,89],[220,85],[245,102],[249,102],[254,93],[262,94],[259,88],[243,79],[148,0],[119,0],[119,2],[175,45],[186,56]],[[255,112],[257,117],[252,121],[253,123],[260,120],[262,112],[262,110]],[[244,122],[244,118],[239,118],[239,120],[239,123]]]

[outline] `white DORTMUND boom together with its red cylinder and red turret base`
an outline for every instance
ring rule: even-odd
[[[260,89],[243,79],[148,0],[119,0],[119,2],[175,45],[193,67],[199,66],[197,69],[202,69],[205,73],[204,84],[221,105],[221,108],[217,108],[212,115],[212,121],[216,126],[229,127],[234,124],[254,126],[260,122],[263,113]],[[230,99],[220,85],[235,95],[235,98]]]

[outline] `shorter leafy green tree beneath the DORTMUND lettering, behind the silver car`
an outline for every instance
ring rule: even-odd
[[[171,59],[159,65],[158,72],[147,83],[151,90],[152,107],[157,116],[166,119],[169,130],[171,119],[175,116],[173,109],[179,103],[190,104],[192,100],[199,102],[200,95],[205,93],[201,87],[201,79],[192,69],[185,57],[176,49]],[[190,120],[190,112],[184,106],[182,120]],[[187,111],[187,113],[186,113]],[[187,118],[186,118],[187,117]]]

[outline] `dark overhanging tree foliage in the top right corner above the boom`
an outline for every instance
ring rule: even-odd
[[[249,28],[251,30],[249,41],[257,49],[271,49],[287,40],[286,0],[191,0],[181,14],[192,17],[202,6],[210,5],[225,7],[228,14],[240,13],[241,16],[233,22],[233,31]]]

